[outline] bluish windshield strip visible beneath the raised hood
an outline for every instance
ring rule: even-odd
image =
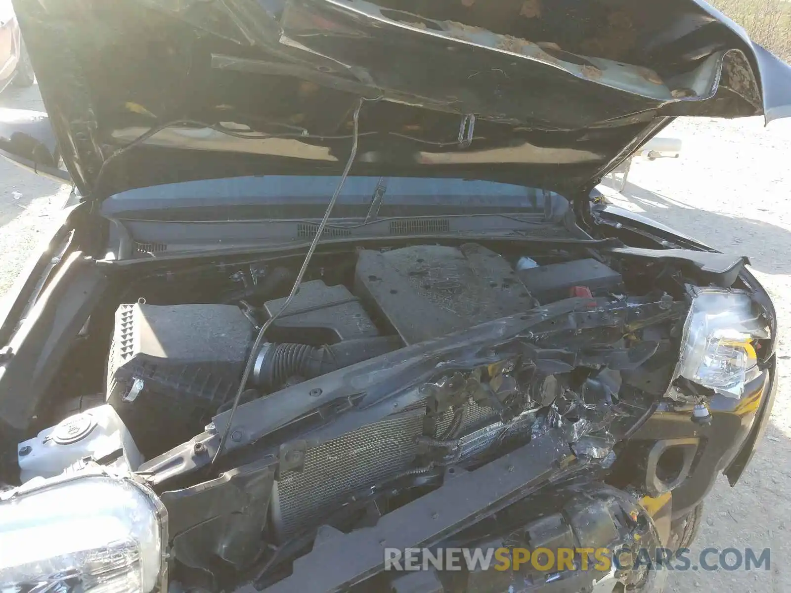
[[[102,202],[109,218],[212,220],[321,217],[339,176],[248,176],[124,191]],[[543,214],[559,221],[566,198],[536,187],[468,179],[349,177],[333,218],[434,214]]]

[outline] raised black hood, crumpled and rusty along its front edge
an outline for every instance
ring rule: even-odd
[[[97,199],[337,174],[361,102],[352,175],[567,195],[674,116],[791,115],[791,67],[697,0],[14,6],[66,167]]]

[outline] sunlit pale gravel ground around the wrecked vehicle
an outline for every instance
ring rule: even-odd
[[[42,109],[36,87],[9,89],[0,107]],[[681,157],[635,161],[613,203],[645,213],[721,251],[751,258],[752,270],[774,296],[782,330],[791,327],[791,123],[764,128],[759,119],[679,119],[663,135],[683,140]],[[0,295],[38,244],[68,188],[0,162]],[[791,342],[781,334],[782,361]],[[789,364],[771,425],[736,488],[721,478],[711,493],[694,550],[771,549],[769,571],[674,572],[671,591],[791,591],[791,409]],[[787,524],[788,523],[788,524]]]

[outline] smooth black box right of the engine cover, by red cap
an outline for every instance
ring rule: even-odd
[[[596,259],[551,263],[548,266],[519,270],[517,276],[540,303],[567,298],[573,286],[587,286],[594,296],[611,292],[618,289],[622,280],[621,274]]]

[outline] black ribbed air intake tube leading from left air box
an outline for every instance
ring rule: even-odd
[[[258,387],[264,393],[271,393],[281,389],[286,383],[325,375],[402,346],[398,336],[360,338],[321,347],[267,342],[261,346],[255,358],[252,386]]]

